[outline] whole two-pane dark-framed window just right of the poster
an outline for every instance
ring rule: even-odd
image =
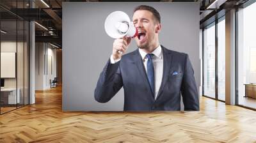
[[[225,15],[206,26],[203,37],[203,95],[225,102]]]

